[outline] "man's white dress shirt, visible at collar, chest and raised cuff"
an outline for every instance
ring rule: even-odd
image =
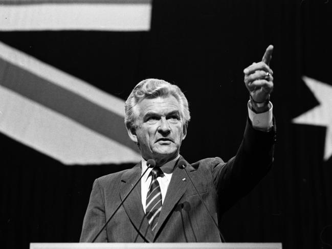
[[[266,112],[262,112],[260,114],[256,114],[254,111],[251,110],[251,102],[248,102],[248,114],[249,114],[249,119],[252,122],[252,125],[255,129],[257,130],[261,130],[261,131],[269,131],[272,128],[272,109],[273,109],[273,105],[270,102],[269,103],[270,109]],[[162,203],[164,203],[165,200],[165,196],[166,196],[166,192],[167,192],[167,188],[168,185],[170,183],[171,177],[172,177],[172,173],[173,173],[173,169],[175,166],[175,162],[176,160],[178,160],[180,157],[180,155],[176,156],[173,160],[167,162],[166,164],[164,164],[163,166],[161,166],[161,170],[163,171],[163,175],[161,175],[160,177],[157,178],[159,186],[160,186],[160,190],[161,190],[161,195],[162,195]],[[146,160],[142,158],[142,174],[143,172],[146,170],[147,165],[146,165]],[[142,177],[141,180],[141,196],[142,196],[142,206],[143,206],[143,210],[145,213],[145,209],[146,209],[146,195],[147,192],[149,191],[149,187],[151,184],[151,172],[152,168],[149,168],[147,170],[147,172],[145,173],[145,175]]]

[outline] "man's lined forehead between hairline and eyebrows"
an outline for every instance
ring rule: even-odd
[[[137,104],[137,107],[141,115],[145,115],[148,112],[180,112],[180,103],[174,96],[144,99]]]

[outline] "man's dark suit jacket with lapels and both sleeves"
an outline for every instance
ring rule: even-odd
[[[217,222],[268,172],[273,161],[274,142],[275,129],[257,131],[248,121],[238,152],[229,162],[214,157],[187,166],[188,174]],[[80,242],[92,241],[140,175],[141,164],[138,164],[95,180]],[[187,178],[182,169],[174,168],[154,233],[145,218],[141,185],[138,184],[96,242],[221,241],[217,228]]]

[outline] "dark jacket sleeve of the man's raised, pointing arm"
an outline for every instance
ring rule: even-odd
[[[218,195],[219,211],[225,212],[247,195],[271,168],[276,126],[269,132],[247,125],[241,145],[234,157],[224,163],[219,157],[211,161],[212,177]]]

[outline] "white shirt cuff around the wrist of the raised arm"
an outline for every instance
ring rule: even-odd
[[[273,126],[272,118],[272,109],[273,105],[269,102],[269,110],[262,112],[260,114],[256,114],[251,107],[250,100],[248,101],[248,115],[249,119],[251,120],[254,129],[261,130],[261,131],[269,131]]]

